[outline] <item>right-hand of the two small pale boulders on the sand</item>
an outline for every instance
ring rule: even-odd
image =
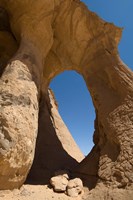
[[[70,197],[77,197],[83,191],[83,183],[81,179],[75,178],[68,182],[67,195]]]

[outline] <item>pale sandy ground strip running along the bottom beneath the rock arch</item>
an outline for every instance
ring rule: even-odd
[[[89,191],[84,187],[78,197],[68,197],[64,193],[55,193],[47,185],[23,185],[20,190],[0,191],[0,200],[133,200],[133,188],[108,190],[102,186]]]

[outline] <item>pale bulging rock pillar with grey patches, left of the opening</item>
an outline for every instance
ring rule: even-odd
[[[39,77],[34,46],[22,42],[0,79],[0,189],[18,188],[34,158]]]

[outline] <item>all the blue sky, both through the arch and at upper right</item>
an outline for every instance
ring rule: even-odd
[[[121,59],[133,70],[133,0],[83,2],[104,20],[124,28],[119,53]],[[50,87],[55,93],[64,122],[86,155],[93,146],[95,112],[83,78],[76,72],[67,71],[56,76]]]

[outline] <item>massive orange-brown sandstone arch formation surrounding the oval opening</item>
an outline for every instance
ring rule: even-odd
[[[23,184],[35,146],[32,180],[67,166],[108,186],[133,184],[133,73],[118,55],[121,32],[78,0],[0,0],[0,189]],[[49,108],[49,83],[64,70],[83,76],[96,110],[94,148],[80,164]]]

